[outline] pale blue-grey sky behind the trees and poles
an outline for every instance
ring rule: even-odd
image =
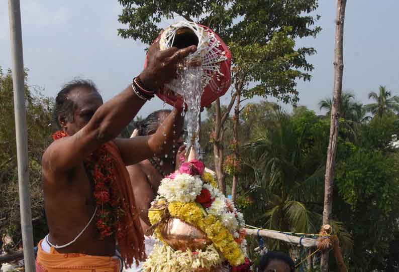
[[[24,65],[30,69],[29,83],[55,96],[74,77],[93,80],[105,100],[124,89],[139,74],[144,63],[140,42],[117,35],[121,13],[118,1],[21,0]],[[298,82],[301,105],[320,112],[317,102],[331,96],[336,1],[321,0],[317,11],[323,28],[316,38],[297,41],[313,46],[318,54],[311,82]],[[349,0],[344,30],[343,89],[352,91],[362,103],[367,94],[386,85],[399,95],[399,1]],[[164,22],[166,24],[173,23]],[[11,67],[8,1],[0,0],[0,66]],[[228,94],[222,101],[228,101]],[[273,99],[270,99],[273,100]],[[139,115],[163,107],[148,102]],[[290,108],[290,107],[286,107]]]

